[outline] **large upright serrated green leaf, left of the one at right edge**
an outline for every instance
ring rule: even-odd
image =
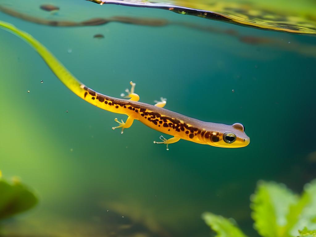
[[[286,232],[289,206],[297,203],[298,197],[285,185],[274,182],[259,182],[251,197],[252,218],[255,229],[264,237],[288,237]]]

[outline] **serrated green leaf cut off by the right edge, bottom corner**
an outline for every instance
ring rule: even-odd
[[[304,186],[300,200],[292,205],[287,216],[287,231],[297,236],[300,229],[316,229],[316,179]]]

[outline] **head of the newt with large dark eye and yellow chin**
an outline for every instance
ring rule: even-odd
[[[211,146],[225,147],[225,148],[238,148],[245,147],[250,143],[250,138],[245,133],[244,125],[235,123],[233,125],[221,125],[220,131],[217,131],[216,135],[211,137],[211,141],[208,142]],[[216,138],[216,139],[215,139]]]

